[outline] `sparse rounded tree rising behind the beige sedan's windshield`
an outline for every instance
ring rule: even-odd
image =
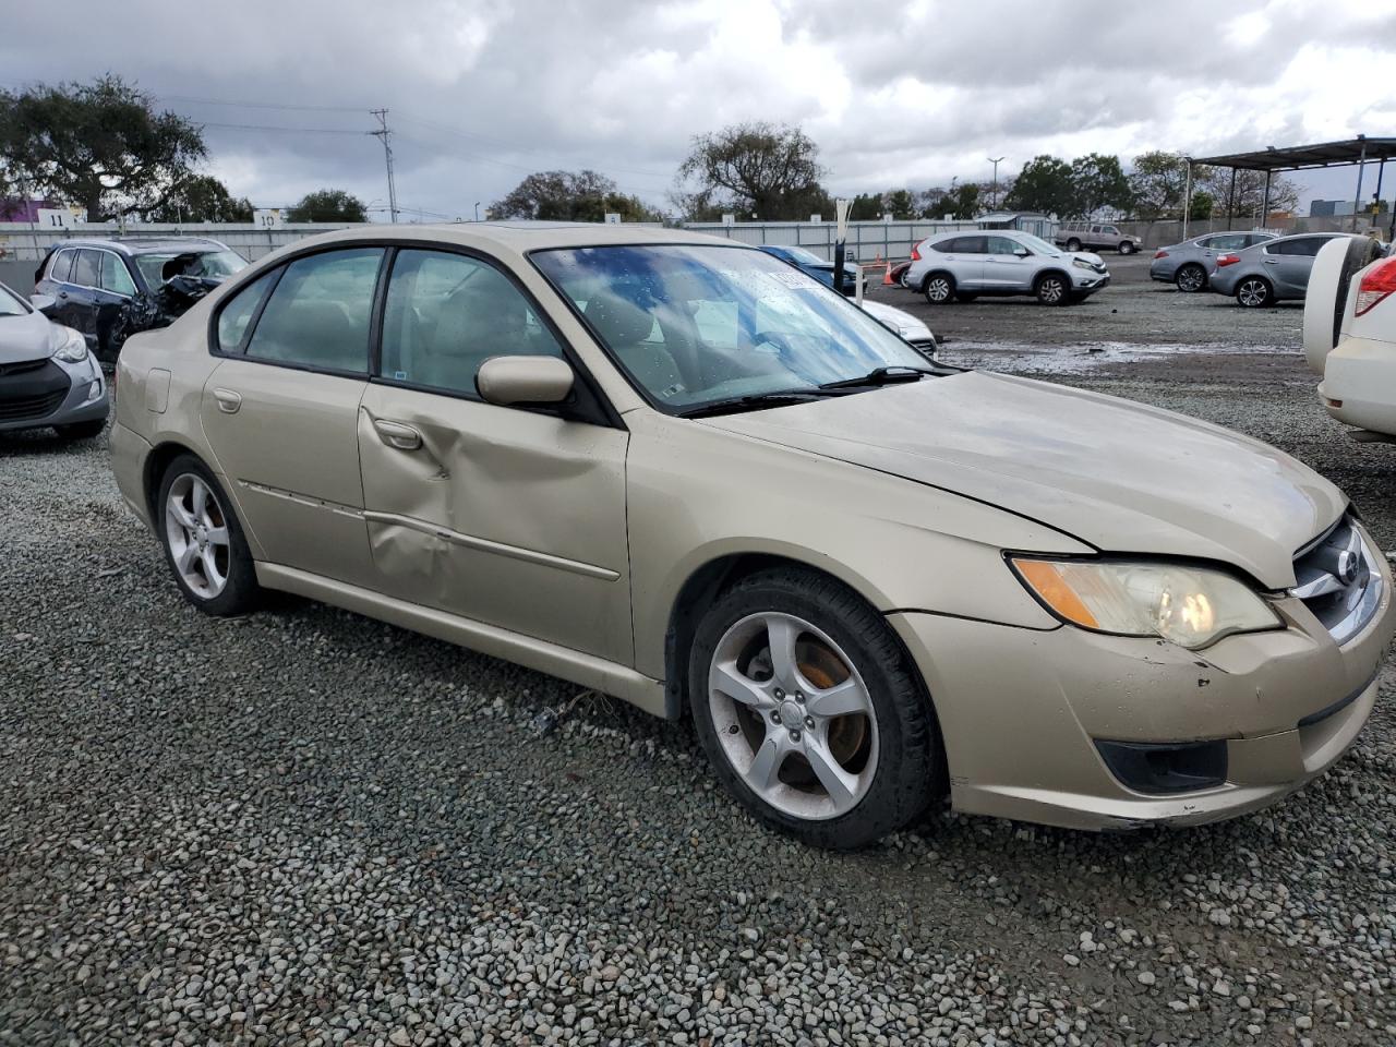
[[[764,219],[803,219],[825,214],[819,186],[819,148],[799,127],[745,123],[694,135],[678,166],[680,194],[698,194],[709,205]],[[812,205],[812,209],[811,209]]]

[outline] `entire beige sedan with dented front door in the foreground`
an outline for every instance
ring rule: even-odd
[[[930,366],[790,276],[685,230],[310,237],[126,343],[116,480],[200,610],[286,589],[690,716],[814,845],[944,783],[966,812],[1205,822],[1353,743],[1396,609],[1333,484]]]

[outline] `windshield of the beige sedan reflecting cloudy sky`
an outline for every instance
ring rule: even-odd
[[[667,413],[926,367],[842,295],[764,251],[652,244],[530,257]]]

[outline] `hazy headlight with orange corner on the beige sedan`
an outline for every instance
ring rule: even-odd
[[[1012,564],[1057,617],[1097,632],[1163,637],[1195,651],[1231,632],[1283,624],[1249,586],[1222,571],[1018,557]]]

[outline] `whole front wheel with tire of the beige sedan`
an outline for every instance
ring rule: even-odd
[[[780,635],[789,655],[772,659]],[[940,730],[910,658],[882,616],[815,571],[762,571],[723,592],[694,635],[688,695],[723,786],[810,846],[867,846],[942,787]],[[821,716],[821,699],[835,711]]]

